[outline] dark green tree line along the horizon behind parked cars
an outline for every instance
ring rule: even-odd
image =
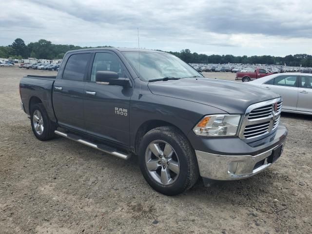
[[[111,47],[111,46],[98,46]],[[11,45],[0,46],[0,58],[13,59],[62,59],[69,50],[86,49],[93,47],[81,47],[76,45],[53,44],[49,40],[39,39],[37,42],[25,42],[18,38]],[[233,56],[233,55],[205,55],[191,53],[189,49],[180,52],[169,51],[168,53],[188,62],[188,63],[243,63],[243,64],[279,64],[288,66],[312,67],[312,56],[307,54],[288,55],[285,57],[263,56]]]

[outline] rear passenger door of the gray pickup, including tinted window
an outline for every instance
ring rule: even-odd
[[[84,86],[91,53],[72,54],[53,86],[53,106],[58,123],[85,131],[83,105]]]

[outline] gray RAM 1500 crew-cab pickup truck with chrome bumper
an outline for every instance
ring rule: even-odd
[[[281,155],[282,99],[252,85],[204,78],[159,51],[70,51],[56,77],[20,80],[21,107],[39,140],[56,135],[128,159],[146,181],[177,195],[254,176]]]

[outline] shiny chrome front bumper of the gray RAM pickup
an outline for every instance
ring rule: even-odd
[[[281,134],[281,136],[284,137],[275,136],[278,139],[277,142],[275,141],[274,144],[267,143],[260,147],[255,147],[256,150],[254,149],[250,154],[227,155],[226,153],[221,154],[221,152],[214,154],[195,150],[200,176],[214,180],[236,180],[256,175],[273,164],[271,158],[273,153],[275,154],[275,151],[281,150],[279,153],[282,153],[286,141],[287,129],[281,126],[280,132],[283,132],[283,130],[284,133]],[[271,140],[275,138],[272,136],[270,137]],[[227,148],[227,139],[228,138],[223,139],[224,148]],[[270,146],[268,147],[268,145]],[[259,148],[265,149],[265,151],[259,150]],[[229,149],[226,151],[228,150]],[[255,154],[255,152],[257,153]]]

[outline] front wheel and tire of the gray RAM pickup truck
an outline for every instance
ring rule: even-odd
[[[199,177],[195,152],[175,127],[157,127],[147,132],[140,143],[138,156],[144,178],[164,195],[183,193]]]

